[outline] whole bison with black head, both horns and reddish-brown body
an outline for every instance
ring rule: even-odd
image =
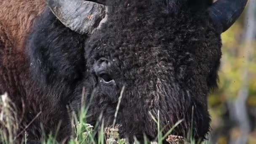
[[[115,120],[129,142],[155,139],[157,115],[163,133],[183,120],[173,134],[187,136],[192,128],[195,139],[205,139],[220,35],[246,3],[2,0],[0,93],[7,92],[22,115],[18,132],[40,141],[43,131],[59,128],[57,140],[67,141],[70,111],[85,103],[88,123],[104,120],[107,127]]]

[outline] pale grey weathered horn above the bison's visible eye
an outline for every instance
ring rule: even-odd
[[[47,5],[62,24],[80,34],[91,35],[106,14],[104,5],[85,0],[47,0]]]

